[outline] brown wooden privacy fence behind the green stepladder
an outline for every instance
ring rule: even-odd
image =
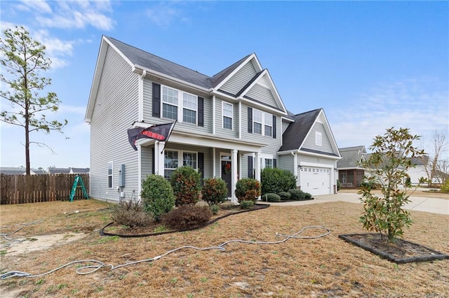
[[[79,174],[89,192],[89,174]],[[0,204],[25,204],[41,201],[68,201],[75,174],[5,175],[0,174]],[[78,183],[74,199],[86,199]]]

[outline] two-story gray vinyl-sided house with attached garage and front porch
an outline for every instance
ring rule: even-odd
[[[224,179],[233,201],[236,181],[265,167],[291,171],[304,192],[336,189],[340,153],[323,109],[288,112],[254,53],[206,76],[102,36],[85,120],[98,199],[137,197],[147,175],[184,165]],[[130,128],[175,121],[167,142],[128,143]]]

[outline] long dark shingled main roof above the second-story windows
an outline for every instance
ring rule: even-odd
[[[116,46],[116,48],[118,48],[123,53],[123,55],[125,55],[130,60],[131,63],[143,66],[147,69],[158,71],[159,73],[166,74],[167,76],[171,76],[173,78],[177,78],[187,83],[192,83],[206,89],[217,86],[219,83],[221,83],[222,80],[229,76],[229,74],[232,73],[232,71],[234,71],[243,61],[245,61],[245,59],[250,56],[247,55],[246,57],[243,57],[238,62],[215,74],[215,76],[210,77],[204,75],[203,73],[199,73],[198,71],[188,69],[185,66],[168,61],[167,59],[163,59],[161,57],[153,55],[149,52],[145,52],[144,50],[140,50],[139,48],[135,48],[132,45],[122,43],[115,38],[109,36],[105,37],[114,46]]]

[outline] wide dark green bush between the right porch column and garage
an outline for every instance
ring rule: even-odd
[[[290,171],[265,168],[260,173],[262,194],[288,192],[296,187],[296,178]]]

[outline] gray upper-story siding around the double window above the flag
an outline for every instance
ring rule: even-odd
[[[156,118],[152,116],[152,90],[153,90],[153,86],[152,86],[152,81],[145,79],[144,80],[144,88],[143,88],[143,115],[144,115],[144,120],[147,123],[151,123],[151,124],[163,124],[163,123],[168,123],[168,122],[173,122],[175,120],[173,119],[169,119],[169,118],[162,118],[162,115],[160,118]],[[194,94],[197,97],[203,97],[204,99],[204,106],[203,106],[203,111],[204,111],[204,123],[203,126],[198,126],[196,124],[192,124],[192,123],[187,123],[187,122],[179,122],[179,120],[182,120],[182,114],[178,113],[178,122],[176,123],[176,126],[174,128],[175,131],[182,131],[182,132],[192,132],[192,133],[196,133],[196,134],[205,134],[205,133],[212,133],[212,98],[211,97],[206,97],[204,96],[204,94],[200,94],[199,92],[194,92],[194,90],[181,90],[179,87],[173,86],[173,85],[167,85],[167,84],[162,84],[165,85],[167,87],[176,89],[176,90],[180,90],[180,91],[184,91],[187,92],[189,94]],[[182,100],[182,99],[179,99]],[[161,100],[162,101],[162,100]],[[162,108],[161,108],[161,113],[162,113]],[[196,111],[196,117],[198,118],[198,111]],[[198,120],[198,119],[197,119]]]

